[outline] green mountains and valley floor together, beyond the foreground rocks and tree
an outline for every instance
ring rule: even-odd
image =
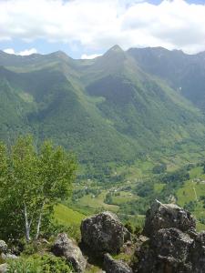
[[[141,226],[159,198],[192,206],[203,228],[201,56],[118,45],[92,60],[0,52],[0,137],[9,145],[32,134],[37,147],[49,138],[77,155],[77,182],[64,205],[80,216],[110,210]],[[55,213],[65,224],[64,209]]]

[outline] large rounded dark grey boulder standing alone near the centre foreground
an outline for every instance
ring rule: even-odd
[[[124,227],[111,212],[87,217],[81,223],[82,242],[95,254],[118,253],[124,243]]]

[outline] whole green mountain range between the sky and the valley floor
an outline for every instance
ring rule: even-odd
[[[92,60],[0,51],[0,139],[51,138],[81,163],[130,162],[205,140],[205,53],[118,45]]]

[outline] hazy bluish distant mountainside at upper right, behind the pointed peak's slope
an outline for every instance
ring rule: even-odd
[[[186,55],[165,48],[132,48],[128,55],[149,74],[167,81],[195,106],[205,110],[205,53]]]

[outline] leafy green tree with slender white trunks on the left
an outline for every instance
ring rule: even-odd
[[[27,241],[31,235],[37,239],[42,220],[49,220],[56,203],[71,193],[75,157],[49,141],[37,150],[31,136],[19,137],[10,153],[0,145],[0,156],[0,213],[10,227],[7,236],[25,229]]]

